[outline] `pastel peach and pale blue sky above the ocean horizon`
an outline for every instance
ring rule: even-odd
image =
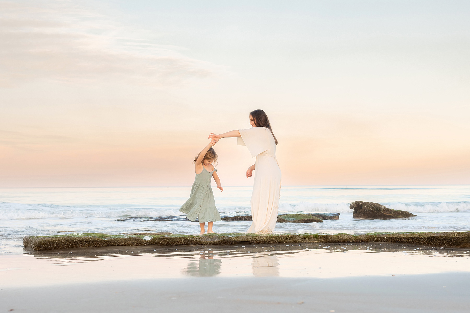
[[[284,185],[470,184],[469,56],[466,0],[0,1],[0,187],[188,186],[259,108]]]

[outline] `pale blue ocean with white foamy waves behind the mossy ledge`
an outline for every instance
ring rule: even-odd
[[[251,186],[212,187],[221,213],[249,214]],[[192,221],[133,221],[179,216],[191,187],[0,188],[0,253],[23,253],[23,237],[67,233],[198,234]],[[349,204],[378,202],[418,215],[403,220],[355,220]],[[339,220],[277,223],[276,233],[469,231],[470,185],[282,186],[279,212],[337,212]],[[244,232],[251,221],[219,221],[214,231]]]

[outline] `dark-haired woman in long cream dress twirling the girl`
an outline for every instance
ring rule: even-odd
[[[255,171],[251,194],[253,223],[247,233],[270,234],[276,226],[281,192],[281,169],[276,160],[277,139],[263,110],[250,113],[250,125],[252,128],[247,130],[232,130],[220,135],[211,133],[209,138],[217,142],[220,138],[239,137],[238,145],[246,145],[251,156],[256,156],[255,164],[246,171],[246,177],[251,177]]]

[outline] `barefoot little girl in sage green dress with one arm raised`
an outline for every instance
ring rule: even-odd
[[[196,179],[194,180],[193,187],[191,188],[191,195],[188,201],[180,208],[180,212],[186,213],[191,221],[198,219],[201,232],[203,235],[205,231],[205,222],[207,222],[207,233],[213,233],[212,224],[214,221],[220,221],[220,214],[215,207],[214,195],[211,188],[211,178],[214,177],[217,183],[217,188],[224,191],[220,186],[220,179],[217,176],[217,169],[212,165],[212,162],[217,165],[217,153],[215,153],[212,146],[215,141],[211,140],[203,151],[201,151],[194,158],[196,164]]]

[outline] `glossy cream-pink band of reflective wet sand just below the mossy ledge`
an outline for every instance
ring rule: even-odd
[[[25,254],[0,258],[0,287],[188,276],[398,277],[470,268],[469,248],[391,243],[113,246]]]

